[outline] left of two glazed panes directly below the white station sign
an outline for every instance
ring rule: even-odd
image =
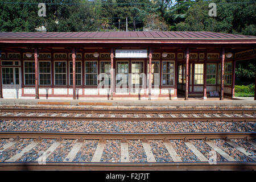
[[[129,84],[129,62],[117,61],[117,84],[122,81],[126,82],[126,86]],[[120,85],[121,86],[121,85]],[[122,85],[125,86],[125,85]]]

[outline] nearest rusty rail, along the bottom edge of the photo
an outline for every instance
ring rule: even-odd
[[[74,162],[10,162],[0,163],[0,170],[92,170],[92,171],[161,171],[161,170],[255,170],[255,162],[174,162],[174,163],[74,163]]]

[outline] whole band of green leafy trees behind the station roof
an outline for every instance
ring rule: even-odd
[[[5,0],[5,2],[14,2]],[[255,3],[243,0],[44,0],[47,16],[38,16],[38,1],[0,3],[0,31],[213,31],[256,35]],[[21,2],[24,2],[23,4]],[[208,15],[217,3],[217,16]],[[28,4],[34,3],[34,4]],[[65,5],[72,3],[72,5]],[[94,3],[94,5],[76,5]]]

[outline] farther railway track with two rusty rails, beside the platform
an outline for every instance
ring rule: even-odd
[[[256,110],[0,109],[0,119],[83,121],[256,121]]]

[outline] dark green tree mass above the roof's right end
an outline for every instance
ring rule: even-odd
[[[217,4],[217,16],[208,15],[209,3]],[[172,18],[171,22],[176,23],[174,29],[177,31],[213,31],[229,34],[256,35],[255,29],[255,3],[249,0],[243,3],[234,3],[233,0],[203,1],[193,3],[183,15],[185,20],[179,23]],[[179,7],[179,5],[177,5]],[[175,10],[172,9],[175,15]],[[179,17],[179,16],[177,16]],[[184,16],[181,16],[184,18]]]

